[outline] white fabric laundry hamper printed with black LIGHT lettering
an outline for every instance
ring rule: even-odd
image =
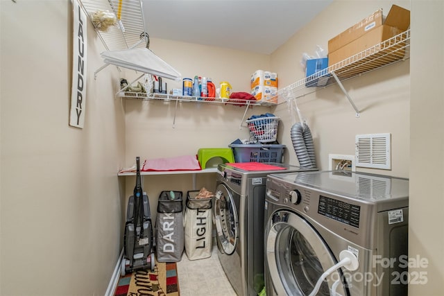
[[[188,191],[185,207],[185,253],[189,260],[212,254],[212,197],[196,198],[199,191]]]

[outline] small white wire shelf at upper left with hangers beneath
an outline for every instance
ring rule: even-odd
[[[144,15],[141,0],[78,0],[89,19],[99,11],[114,13],[117,26],[110,26],[106,31],[96,28],[103,45],[108,51],[120,51],[134,47],[146,47],[148,36],[145,32]],[[119,19],[120,17],[120,19]],[[145,38],[146,42],[140,42]]]

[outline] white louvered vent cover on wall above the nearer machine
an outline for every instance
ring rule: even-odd
[[[390,170],[390,134],[357,134],[356,166]]]

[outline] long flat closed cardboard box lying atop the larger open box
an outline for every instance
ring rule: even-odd
[[[382,17],[382,9],[376,10],[372,15],[359,21],[354,26],[351,26],[347,30],[343,31],[343,33],[328,40],[328,52],[332,53],[333,51],[340,49],[342,46],[349,44],[353,40],[357,40],[365,33],[382,26]]]

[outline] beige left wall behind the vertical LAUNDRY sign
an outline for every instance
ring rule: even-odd
[[[69,127],[70,1],[1,1],[0,295],[104,295],[121,247],[117,70],[89,24],[86,118]]]

